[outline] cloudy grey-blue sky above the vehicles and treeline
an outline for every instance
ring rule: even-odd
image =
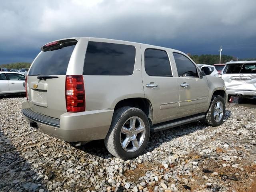
[[[256,57],[255,0],[0,0],[0,64],[61,38],[99,37],[190,54]]]

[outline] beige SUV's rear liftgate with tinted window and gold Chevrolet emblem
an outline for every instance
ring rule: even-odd
[[[75,39],[46,44],[32,63],[27,76],[27,91],[30,107],[35,112],[54,118],[67,112],[66,72],[76,44]]]

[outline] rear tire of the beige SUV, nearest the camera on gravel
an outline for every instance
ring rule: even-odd
[[[135,126],[131,126],[132,122],[135,122]],[[133,128],[133,132],[130,131],[132,130],[131,127],[135,128]],[[136,134],[138,131],[142,131],[142,127],[145,128],[144,131]],[[126,132],[127,134],[123,132]],[[110,152],[113,156],[123,160],[128,160],[139,156],[144,151],[148,144],[149,135],[150,124],[146,114],[138,108],[121,107],[114,111],[111,126],[106,138],[104,139],[104,143],[108,149],[108,152]],[[137,142],[135,141],[135,138]],[[127,140],[128,142],[126,142]],[[129,144],[127,147],[124,145],[123,148],[121,142],[123,145],[125,143]],[[139,147],[136,148],[133,146]]]

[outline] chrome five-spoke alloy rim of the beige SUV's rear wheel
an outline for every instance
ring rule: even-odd
[[[121,129],[120,143],[127,152],[134,152],[140,148],[145,138],[145,124],[141,118],[133,116],[126,120]]]

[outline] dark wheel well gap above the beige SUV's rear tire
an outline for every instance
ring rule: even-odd
[[[152,106],[149,100],[145,99],[145,98],[129,98],[129,99],[124,99],[119,101],[114,110],[120,108],[120,107],[125,107],[125,106],[129,106],[129,107],[136,107],[139,108],[140,110],[142,110],[146,116],[148,116],[148,120],[151,124],[152,122]]]

